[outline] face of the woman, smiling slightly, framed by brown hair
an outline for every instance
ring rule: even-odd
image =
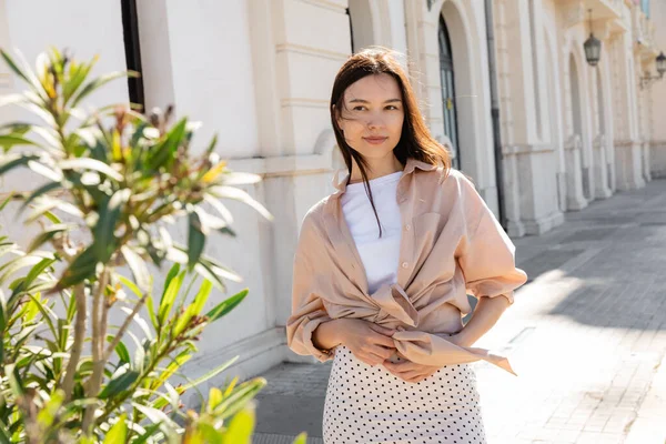
[[[390,74],[372,74],[344,92],[337,124],[347,144],[366,160],[392,154],[400,142],[405,112],[397,81]]]

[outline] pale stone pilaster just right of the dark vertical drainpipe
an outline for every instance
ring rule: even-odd
[[[547,124],[543,6],[538,0],[494,4],[508,231],[539,234],[564,220],[556,141]]]

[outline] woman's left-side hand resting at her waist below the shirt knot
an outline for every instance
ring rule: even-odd
[[[356,319],[339,319],[337,337],[359,361],[370,366],[382,364],[395,352],[391,336],[395,330]]]

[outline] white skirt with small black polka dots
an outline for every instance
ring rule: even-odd
[[[476,375],[447,365],[408,383],[339,346],[324,404],[325,444],[485,444]]]

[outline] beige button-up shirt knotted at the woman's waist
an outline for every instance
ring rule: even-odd
[[[330,360],[333,352],[316,349],[312,332],[322,322],[354,317],[398,330],[392,337],[410,361],[443,366],[484,360],[513,373],[505,357],[446,340],[472,310],[467,293],[513,303],[513,291],[527,280],[515,266],[513,243],[472,182],[455,170],[446,174],[441,167],[407,161],[396,195],[403,230],[397,282],[372,294],[341,210],[346,182],[336,174],[337,191],[303,220],[287,345]]]

